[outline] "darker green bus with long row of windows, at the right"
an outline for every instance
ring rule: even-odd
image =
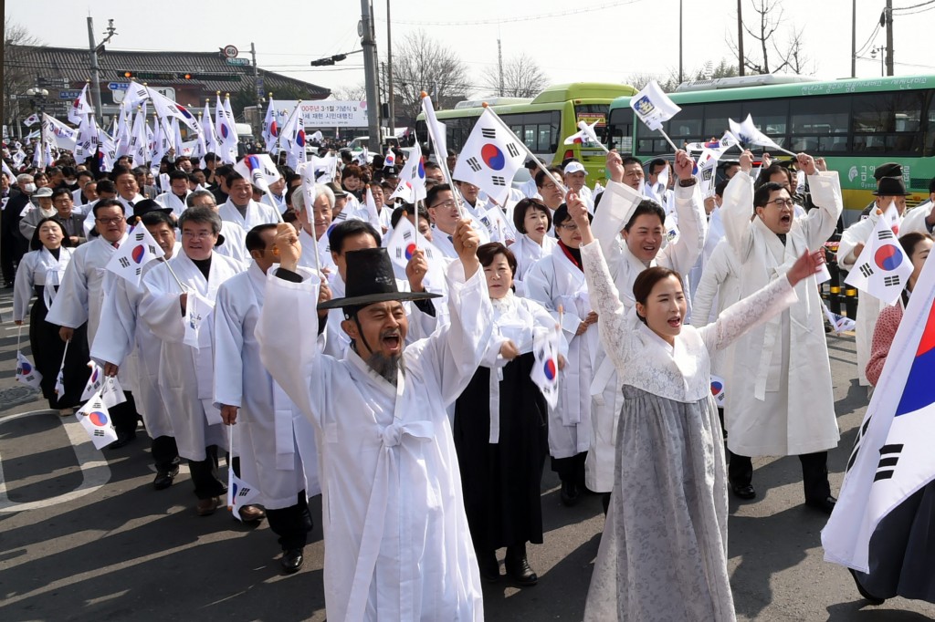
[[[663,129],[681,145],[719,138],[728,129],[727,119],[753,115],[755,125],[777,144],[822,156],[829,170],[841,174],[845,223],[873,200],[873,170],[881,163],[902,164],[912,192],[907,205],[928,199],[928,182],[935,177],[935,76],[738,86],[756,78],[773,77],[711,80],[701,91],[683,85],[669,95],[682,111]],[[629,99],[611,104],[605,144],[641,160],[670,153],[662,134],[634,117]],[[737,154],[728,151],[727,157]]]

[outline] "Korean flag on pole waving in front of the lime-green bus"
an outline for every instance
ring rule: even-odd
[[[458,156],[453,177],[474,184],[497,205],[504,205],[516,171],[523,166],[525,151],[516,135],[500,125],[494,113],[484,108]]]

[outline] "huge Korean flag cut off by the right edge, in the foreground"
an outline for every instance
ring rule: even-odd
[[[828,561],[868,572],[870,537],[901,502],[935,479],[935,262],[913,288],[822,530]]]

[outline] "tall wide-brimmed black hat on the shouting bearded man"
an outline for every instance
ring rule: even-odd
[[[428,300],[439,298],[441,294],[428,291],[399,291],[396,288],[396,276],[393,262],[386,248],[361,248],[344,253],[347,262],[347,281],[344,298],[319,303],[319,309],[338,309],[349,306],[367,306],[367,304],[385,303],[391,300]]]

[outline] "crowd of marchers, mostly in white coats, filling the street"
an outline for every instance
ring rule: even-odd
[[[186,460],[198,516],[223,503],[227,452],[259,491],[237,517],[268,520],[285,573],[303,565],[322,494],[332,619],[481,619],[501,549],[510,580],[535,585],[547,458],[562,503],[604,505],[585,619],[735,619],[727,495],[755,499],[753,457],[797,456],[805,505],[836,502],[815,251],[839,227],[838,174],[806,154],[755,169],[745,151],[705,197],[682,150],[611,151],[606,188],[577,161],[531,160],[498,205],[445,183],[450,152],[424,162],[425,198],[407,203],[391,199],[406,154],[339,152],[313,189],[279,162],[268,192],[214,154],[108,173],[63,155],[4,175],[3,278],[50,409],[75,414],[93,360],[123,392],[109,447],[142,445],[141,421],[153,487]],[[935,180],[909,211],[898,163],[877,183],[837,261],[854,266],[894,203],[917,277]],[[107,269],[133,227],[164,253],[138,282]],[[400,228],[417,232],[401,262]],[[861,292],[861,382],[879,376],[914,282],[891,307]],[[554,403],[533,381],[549,339]],[[901,551],[882,555],[855,574],[862,595],[935,601],[930,566],[913,583]]]

